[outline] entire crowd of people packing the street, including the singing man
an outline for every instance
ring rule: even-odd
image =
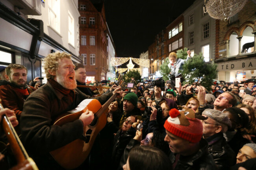
[[[181,77],[174,70],[176,62],[180,68],[186,61],[177,60],[175,53],[169,59],[174,77]],[[9,117],[40,170],[65,169],[65,163],[51,153],[75,140],[91,145],[83,162],[71,166],[77,170],[256,169],[256,79],[213,82],[211,87],[180,83],[179,88],[172,81],[162,87],[132,79],[132,88],[117,82],[100,88],[100,82],[85,82],[82,64],[74,65],[71,55],[59,51],[45,58],[44,69],[47,83],[41,86],[38,77],[26,84],[28,71],[20,64],[0,67],[0,99],[5,108],[0,115]],[[101,119],[89,105],[76,120],[54,124],[85,99],[87,103],[96,99],[102,108],[111,100],[106,117],[98,121],[103,124],[99,133],[88,130]],[[0,132],[0,140],[7,144]],[[2,162],[7,162],[6,169],[17,166],[19,161],[10,150],[1,152],[0,166]],[[74,157],[66,154],[62,156]]]

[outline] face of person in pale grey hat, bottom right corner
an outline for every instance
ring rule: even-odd
[[[238,152],[236,163],[242,163],[248,159],[256,158],[256,144],[247,143]]]

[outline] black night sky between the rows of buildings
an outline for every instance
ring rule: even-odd
[[[106,20],[117,57],[138,58],[157,33],[195,0],[105,0]]]

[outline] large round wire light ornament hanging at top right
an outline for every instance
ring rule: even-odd
[[[228,18],[237,14],[247,0],[204,0],[204,13],[217,20],[227,21]]]

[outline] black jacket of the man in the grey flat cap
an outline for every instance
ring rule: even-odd
[[[227,170],[236,164],[236,154],[230,148],[223,133],[217,133],[206,139],[209,144],[208,151],[212,155],[219,170]]]

